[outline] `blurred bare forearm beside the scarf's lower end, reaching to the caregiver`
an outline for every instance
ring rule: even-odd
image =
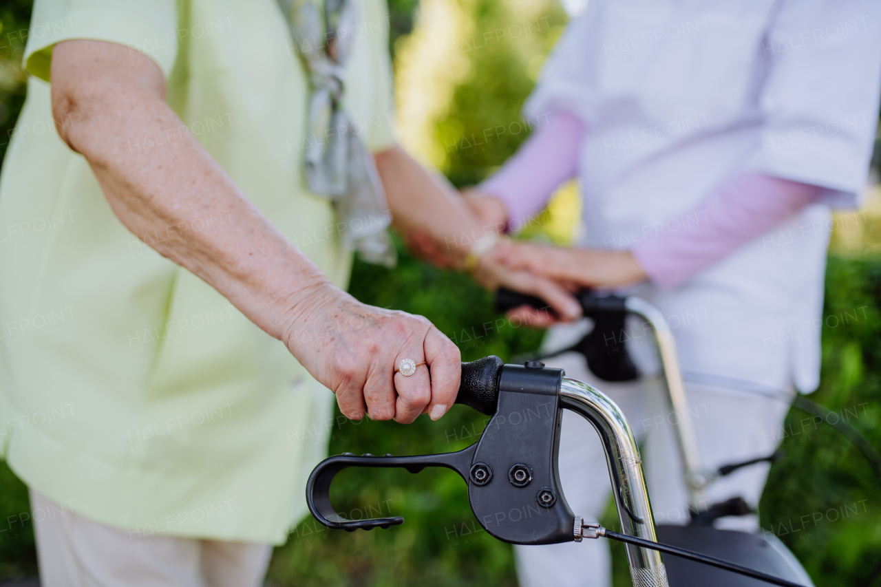
[[[375,153],[394,226],[403,234],[425,231],[444,243],[444,252],[461,269],[475,241],[501,227],[483,226],[455,189],[420,166],[399,146]]]

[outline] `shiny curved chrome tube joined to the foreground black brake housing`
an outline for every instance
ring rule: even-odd
[[[640,451],[624,413],[602,391],[569,377],[563,378],[559,398],[563,407],[581,414],[600,435],[621,531],[657,542]],[[635,587],[667,587],[667,571],[660,553],[629,544],[626,550]]]

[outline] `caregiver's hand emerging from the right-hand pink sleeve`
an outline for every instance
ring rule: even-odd
[[[500,247],[496,258],[511,269],[580,287],[626,286],[646,279],[630,251],[512,242]]]

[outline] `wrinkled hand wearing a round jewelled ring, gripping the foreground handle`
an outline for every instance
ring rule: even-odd
[[[409,424],[438,420],[455,402],[462,363],[457,346],[422,316],[367,306],[329,284],[292,310],[285,343],[315,379],[337,395],[343,414]],[[398,362],[426,361],[416,373]]]

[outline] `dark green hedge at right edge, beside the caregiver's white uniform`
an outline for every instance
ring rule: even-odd
[[[833,414],[813,420],[789,412],[781,435],[785,456],[774,464],[760,504],[762,527],[789,546],[814,583],[828,587],[860,585],[881,562],[879,479],[828,425],[846,421],[881,447],[879,303],[877,257],[829,257],[822,381],[810,398]]]

